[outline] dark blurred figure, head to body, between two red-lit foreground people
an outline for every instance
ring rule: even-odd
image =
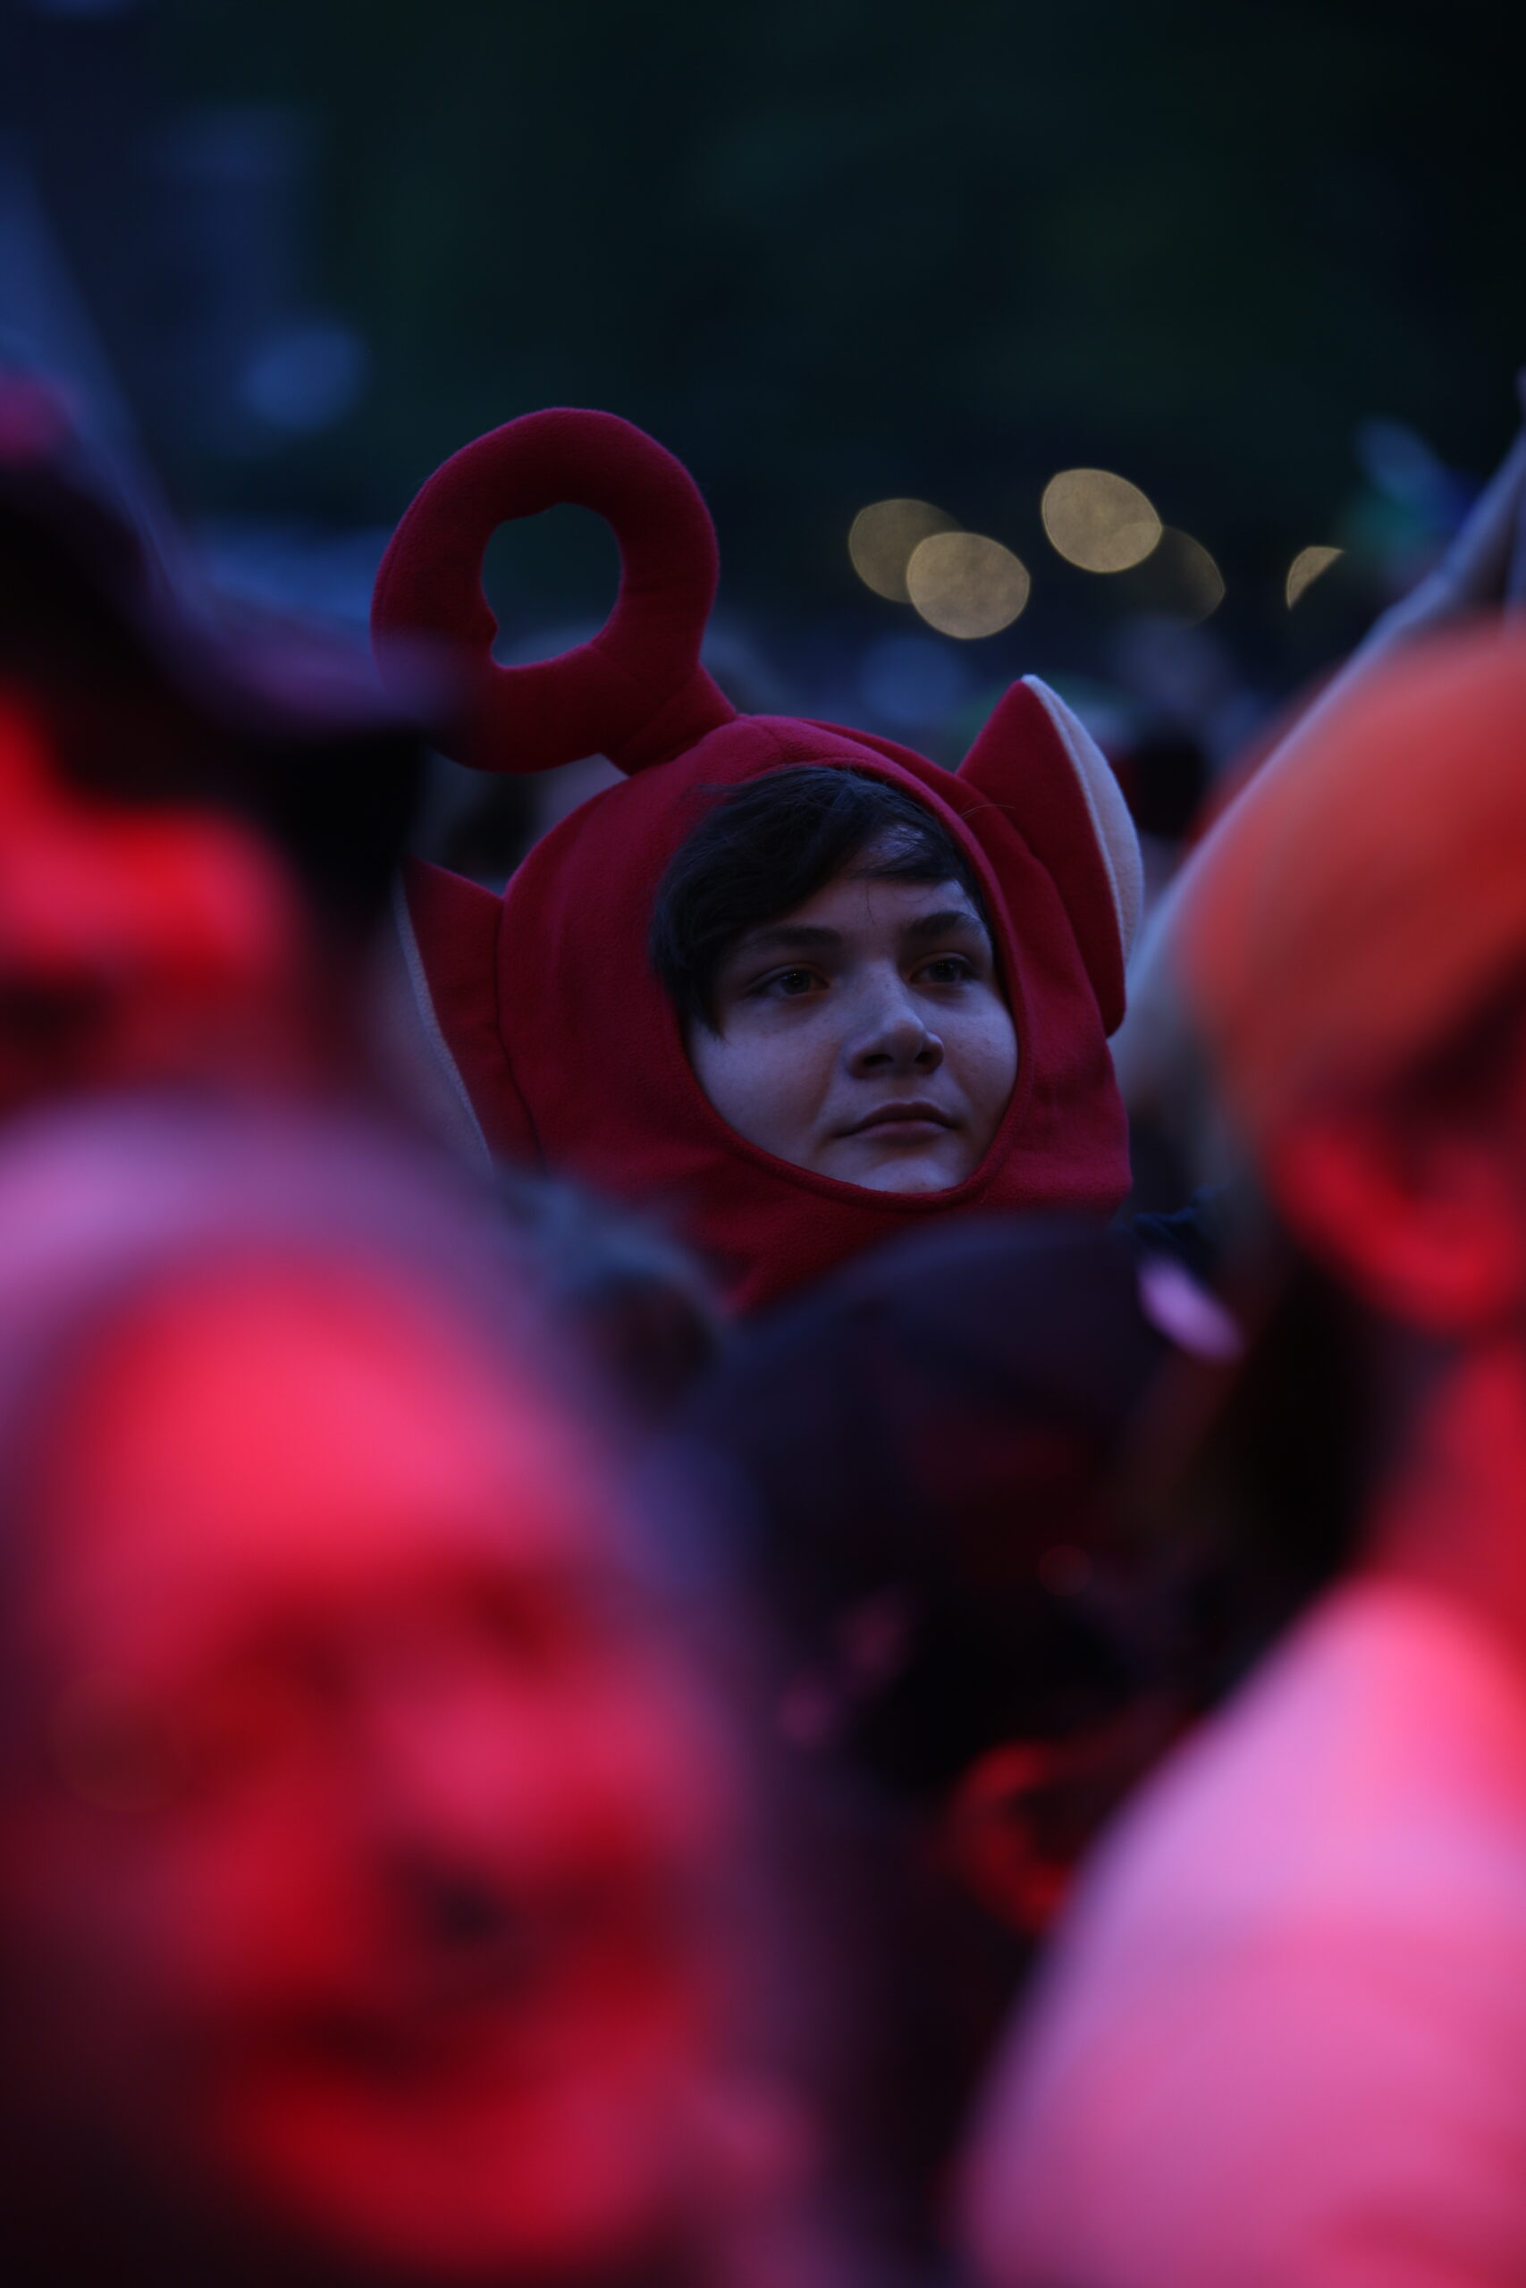
[[[952,1220],[764,1313],[682,1421],[755,1524],[778,1727],[856,1853],[840,2112],[929,2270],[1034,1945],[1199,1705],[1185,1599],[1130,1570],[1119,1496],[1162,1375],[1226,1341],[1130,1231]]]

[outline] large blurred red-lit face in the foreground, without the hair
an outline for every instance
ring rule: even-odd
[[[34,2112],[400,2277],[679,2233],[732,1775],[574,1425],[394,1288],[222,1274],[71,1393],[39,1522]]]

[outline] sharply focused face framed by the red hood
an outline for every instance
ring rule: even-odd
[[[874,879],[865,851],[721,963],[689,1059],[748,1144],[869,1192],[947,1192],[1018,1078],[995,952],[956,881]]]

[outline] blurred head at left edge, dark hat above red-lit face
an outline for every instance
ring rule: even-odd
[[[416,762],[348,654],[176,597],[0,378],[0,1105],[313,1055]]]

